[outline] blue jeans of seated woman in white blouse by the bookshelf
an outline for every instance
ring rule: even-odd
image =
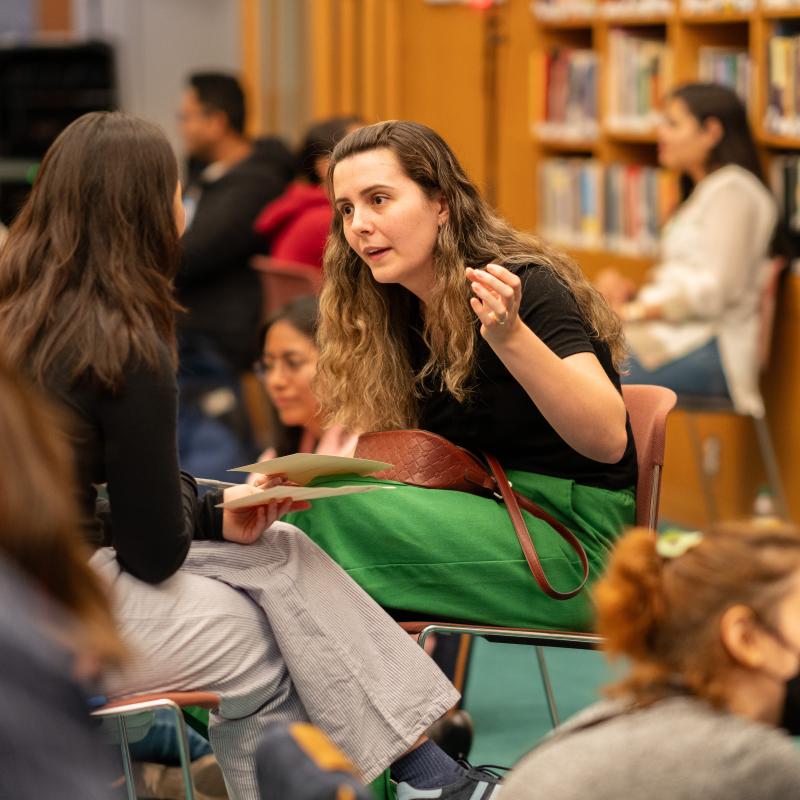
[[[716,339],[658,369],[645,369],[633,354],[629,356],[626,367],[628,374],[622,375],[623,383],[657,384],[666,386],[678,394],[730,399]]]

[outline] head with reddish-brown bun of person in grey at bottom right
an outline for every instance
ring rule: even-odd
[[[630,665],[608,694],[647,706],[677,690],[778,723],[800,672],[797,528],[737,522],[667,540],[635,529],[594,599],[606,653]]]

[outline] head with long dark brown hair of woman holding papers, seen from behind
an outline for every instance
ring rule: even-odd
[[[51,369],[116,387],[131,358],[174,354],[172,279],[183,229],[178,168],[161,129],[120,112],[53,142],[0,250],[0,342],[43,384]]]

